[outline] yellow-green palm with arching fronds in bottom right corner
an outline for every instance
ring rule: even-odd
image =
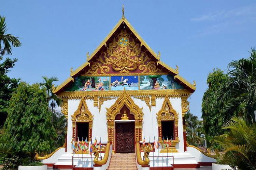
[[[241,170],[256,169],[256,125],[244,118],[232,117],[223,129],[227,129],[227,133],[213,140],[225,152],[218,158],[219,162]]]

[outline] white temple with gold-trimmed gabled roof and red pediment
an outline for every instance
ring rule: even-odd
[[[171,68],[160,61],[160,52],[146,44],[123,10],[113,30],[94,52],[87,53],[87,61],[74,71],[71,68],[70,77],[54,89],[63,101],[66,143],[50,155],[36,158],[54,168],[211,165],[216,162],[214,155],[186,142],[184,115],[189,109],[187,98],[195,90],[195,81],[190,84],[182,78],[178,66]],[[72,150],[73,139],[76,145],[78,139],[95,138],[101,140],[102,148],[94,148],[92,157],[88,150]],[[154,139],[161,144],[158,149],[152,147]],[[170,139],[171,146],[164,148],[163,140]]]

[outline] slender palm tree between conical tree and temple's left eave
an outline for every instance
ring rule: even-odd
[[[47,102],[51,105],[52,113],[53,113],[53,108],[56,106],[56,104],[57,106],[60,106],[62,103],[61,98],[59,98],[57,95],[53,93],[53,88],[54,88],[53,82],[59,81],[59,79],[55,76],[52,76],[50,78],[43,76],[42,78],[44,79],[44,81],[43,83],[40,83],[40,85],[46,88]],[[52,123],[53,123],[53,115],[52,115]]]

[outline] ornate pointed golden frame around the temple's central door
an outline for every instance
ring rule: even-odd
[[[108,139],[114,144],[114,130],[115,130],[115,117],[120,113],[121,108],[126,105],[130,109],[130,114],[134,115],[135,119],[135,140],[142,140],[142,120],[143,112],[142,108],[134,103],[132,98],[124,90],[123,94],[116,100],[116,102],[110,107],[106,108],[106,119],[108,122]],[[114,150],[114,149],[113,149]]]

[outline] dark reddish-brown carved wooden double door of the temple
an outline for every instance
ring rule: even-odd
[[[134,123],[116,123],[116,152],[134,152]]]

